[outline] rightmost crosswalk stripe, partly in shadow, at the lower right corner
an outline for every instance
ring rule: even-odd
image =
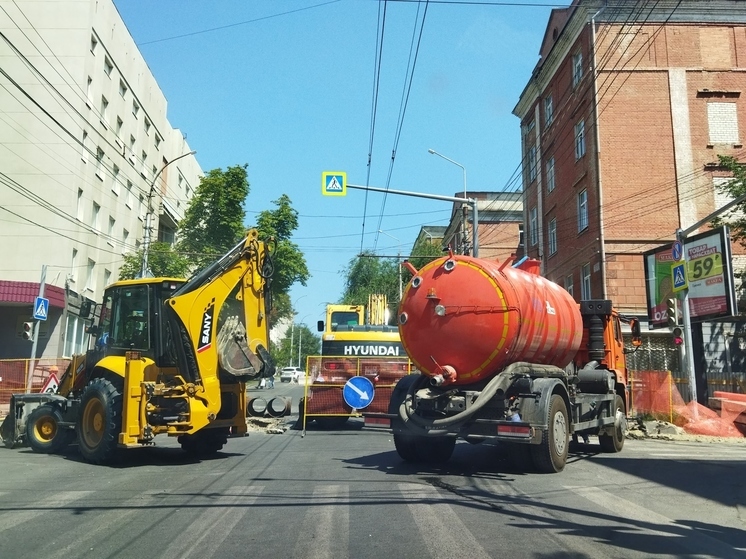
[[[742,551],[728,544],[724,544],[715,538],[695,531],[684,523],[676,522],[662,514],[641,507],[598,487],[565,486],[565,489],[612,511],[619,518],[619,522],[629,524],[629,529],[631,530],[640,530],[645,534],[668,538],[672,543],[676,543],[682,549],[686,549],[686,552],[691,554],[692,557],[717,557],[719,559],[743,557]],[[657,530],[642,525],[642,523],[659,526],[664,529]]]

